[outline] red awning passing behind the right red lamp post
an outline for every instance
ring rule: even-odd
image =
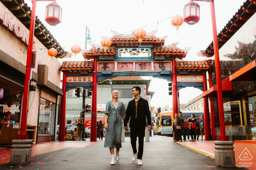
[[[232,92],[232,82],[229,80],[229,78],[226,78],[225,80],[221,81],[221,85],[222,85],[222,95],[226,96],[228,95],[230,92]],[[201,95],[202,98],[206,98],[206,97],[217,97],[217,85],[211,87],[210,89],[208,89],[207,91],[203,92],[203,94]]]

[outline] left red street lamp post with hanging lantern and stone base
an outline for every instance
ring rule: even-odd
[[[54,25],[54,26],[61,23],[62,9],[60,5],[56,3],[56,0],[31,0],[32,11],[31,11],[31,18],[30,18],[29,44],[28,44],[28,50],[27,50],[27,62],[26,62],[26,72],[25,72],[24,95],[23,95],[23,102],[22,102],[20,134],[17,135],[17,140],[12,141],[12,143],[15,144],[15,148],[11,150],[11,154],[10,154],[10,163],[14,165],[26,165],[30,163],[30,158],[31,158],[31,150],[30,150],[29,144],[32,142],[32,140],[28,139],[28,135],[26,134],[26,123],[27,123],[27,104],[28,104],[28,97],[29,97],[29,84],[30,84],[30,79],[32,74],[31,59],[32,59],[32,50],[33,50],[35,10],[36,10],[37,1],[53,1],[53,3],[48,4],[46,7],[45,21],[48,22],[50,25]],[[25,144],[28,144],[28,145],[25,145]],[[28,147],[30,151],[28,151],[27,149]],[[15,154],[20,155],[19,163],[13,162],[14,161],[13,158]]]

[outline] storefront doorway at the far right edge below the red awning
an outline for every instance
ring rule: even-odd
[[[256,140],[256,90],[243,96],[244,124],[247,140]]]

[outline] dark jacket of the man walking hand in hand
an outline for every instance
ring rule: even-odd
[[[131,117],[129,127],[136,127],[136,126],[146,126],[146,117],[148,121],[148,125],[151,125],[151,115],[149,111],[148,102],[146,99],[143,99],[140,97],[138,100],[138,106],[137,106],[137,121],[135,124],[135,118],[136,116],[136,107],[135,107],[135,98],[129,101],[125,119],[124,119],[124,127],[127,127],[127,123]]]

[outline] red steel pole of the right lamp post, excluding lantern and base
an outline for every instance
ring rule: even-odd
[[[223,109],[222,86],[221,86],[221,69],[220,69],[220,64],[219,64],[219,47],[218,47],[218,39],[217,39],[217,28],[216,28],[216,19],[215,19],[214,0],[212,0],[210,3],[211,3],[211,17],[212,17],[215,70],[216,70],[216,79],[217,79],[219,124],[220,124],[220,131],[221,131],[221,135],[218,136],[218,141],[229,141],[229,137],[226,136],[225,123],[224,123],[224,109]]]

